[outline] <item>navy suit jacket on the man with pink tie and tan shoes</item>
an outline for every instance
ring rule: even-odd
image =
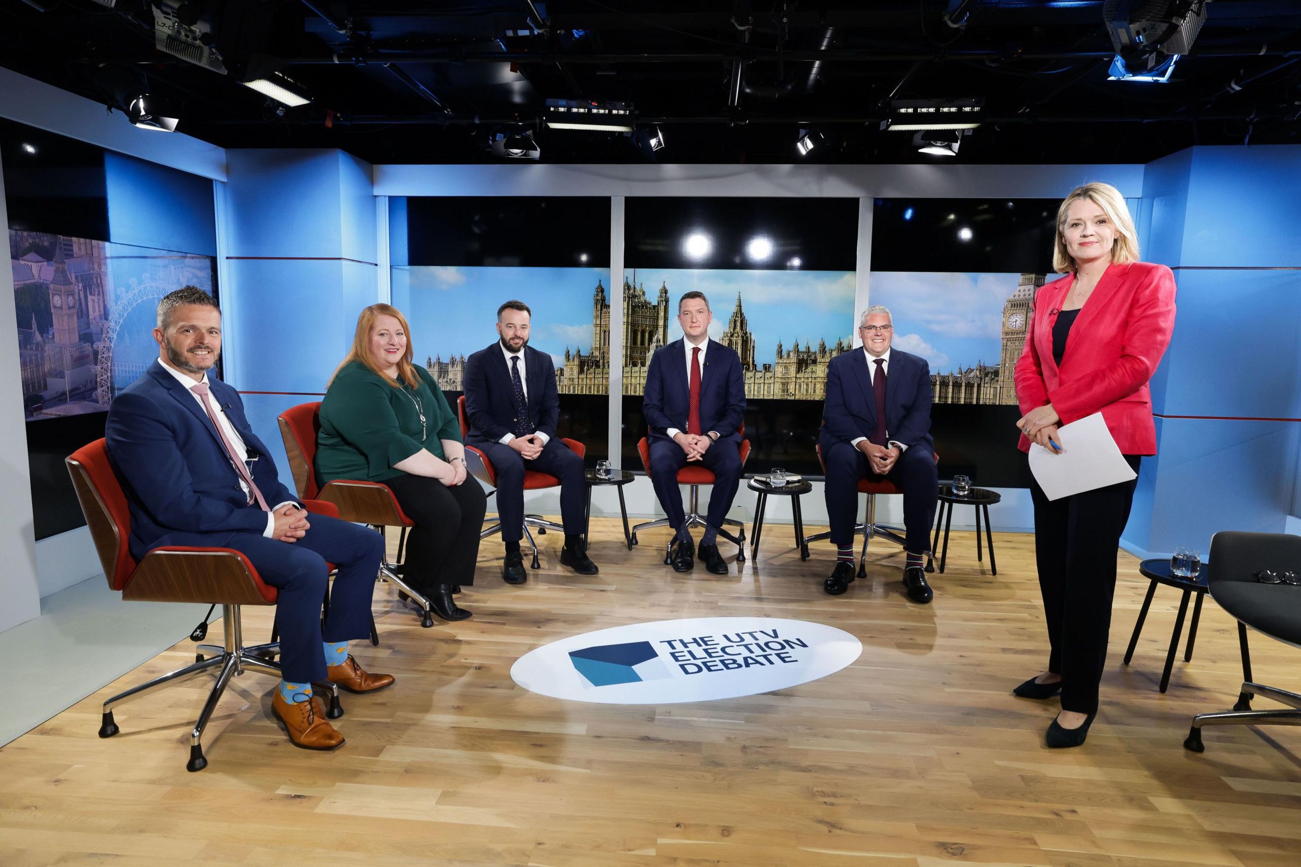
[[[252,480],[267,504],[298,497],[280,483],[276,462],[245,417],[239,392],[208,375],[209,396],[225,410],[252,462]],[[131,510],[131,555],[172,544],[176,532],[256,532],[267,513],[248,506],[217,428],[172,374],[155,361],[113,398],[104,430],[108,457]]]

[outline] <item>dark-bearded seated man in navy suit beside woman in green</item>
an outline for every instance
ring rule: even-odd
[[[600,571],[583,542],[583,458],[556,435],[561,418],[556,365],[550,355],[528,345],[532,316],[523,301],[507,301],[497,309],[497,340],[466,359],[466,443],[483,452],[497,471],[497,516],[506,545],[501,577],[507,585],[527,581],[519,552],[524,536],[524,470],[546,473],[561,482],[561,564],[580,575]]]

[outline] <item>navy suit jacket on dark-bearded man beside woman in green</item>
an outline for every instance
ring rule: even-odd
[[[464,378],[467,439],[496,443],[514,434],[515,385],[501,342],[493,341],[492,346],[467,358]],[[533,419],[530,434],[539,431],[556,439],[556,426],[561,420],[556,365],[550,355],[532,346],[524,346],[524,392],[528,418]]]

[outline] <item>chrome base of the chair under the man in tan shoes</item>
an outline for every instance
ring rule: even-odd
[[[199,719],[190,730],[190,760],[186,763],[185,769],[202,771],[208,767],[208,760],[203,755],[203,730],[208,728],[208,721],[212,719],[213,711],[217,709],[217,702],[221,700],[221,694],[225,693],[226,686],[230,683],[230,678],[243,674],[246,670],[258,672],[259,674],[272,674],[277,680],[281,677],[280,663],[273,659],[273,656],[280,652],[280,644],[243,646],[243,633],[239,625],[239,605],[222,605],[221,622],[225,627],[224,646],[199,644],[196,648],[199,652],[196,654],[195,663],[193,665],[186,665],[185,668],[163,674],[161,677],[155,677],[152,681],[146,681],[144,683],[133,686],[125,693],[118,693],[104,702],[104,713],[100,720],[99,737],[111,738],[121,730],[113,720],[114,708],[168,686],[185,683],[186,681],[190,681],[200,674],[211,672],[217,676],[217,682],[213,683],[212,691],[208,693],[208,699],[203,703],[203,709],[199,712]],[[217,654],[211,657],[203,656],[203,651],[209,650],[217,651]],[[325,716],[332,720],[337,720],[343,716],[343,707],[338,700],[338,686],[329,682],[314,683],[314,686],[320,689],[323,695],[329,696],[329,707],[325,711]]]

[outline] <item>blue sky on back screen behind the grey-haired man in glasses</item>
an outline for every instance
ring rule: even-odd
[[[1020,280],[1020,273],[873,271],[868,297],[890,307],[895,346],[947,374],[999,363],[1003,302]]]

